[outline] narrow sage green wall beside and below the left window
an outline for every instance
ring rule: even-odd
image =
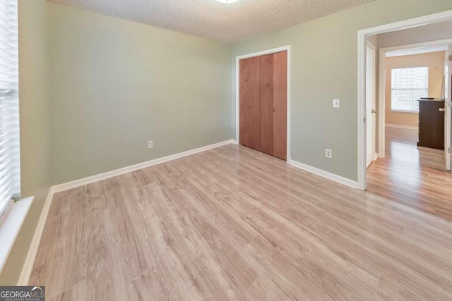
[[[47,1],[18,4],[20,185],[22,197],[34,195],[35,200],[1,272],[0,285],[16,285],[50,185]]]

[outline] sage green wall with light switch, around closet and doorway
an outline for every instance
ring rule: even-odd
[[[234,44],[232,58],[291,45],[292,159],[357,180],[358,30],[451,9],[446,0],[378,0]]]

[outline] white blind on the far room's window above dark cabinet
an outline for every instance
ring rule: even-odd
[[[394,68],[391,86],[391,110],[418,112],[417,99],[429,96],[429,68]]]

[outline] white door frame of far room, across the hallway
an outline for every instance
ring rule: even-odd
[[[386,128],[385,128],[385,121],[386,121],[386,67],[385,67],[385,61],[386,61],[386,52],[391,51],[398,51],[398,50],[405,50],[405,49],[413,49],[413,48],[420,48],[420,47],[431,47],[436,46],[439,44],[452,44],[452,39],[439,39],[436,41],[429,41],[429,42],[421,42],[421,43],[415,43],[415,44],[405,44],[400,46],[394,46],[394,47],[385,47],[380,49],[380,66],[379,66],[379,158],[384,158],[386,156],[385,154],[385,147],[386,147],[386,141],[385,141],[385,135],[386,135]]]

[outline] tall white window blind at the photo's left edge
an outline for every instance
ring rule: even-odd
[[[20,197],[18,0],[0,0],[0,222]]]

